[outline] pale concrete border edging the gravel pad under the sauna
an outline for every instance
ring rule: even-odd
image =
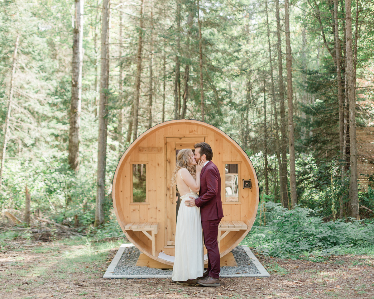
[[[128,244],[121,244],[119,247],[116,255],[112,259],[110,265],[108,266],[107,271],[105,271],[105,274],[103,278],[171,278],[171,275],[114,275],[114,269],[116,268],[119,260],[122,257],[123,252],[125,251],[126,247],[134,246],[132,243]],[[220,277],[269,277],[270,274],[266,271],[263,265],[261,265],[260,261],[255,257],[255,255],[252,253],[251,249],[248,248],[246,245],[242,245],[245,253],[249,256],[249,258],[252,260],[258,271],[259,274],[222,274]]]

